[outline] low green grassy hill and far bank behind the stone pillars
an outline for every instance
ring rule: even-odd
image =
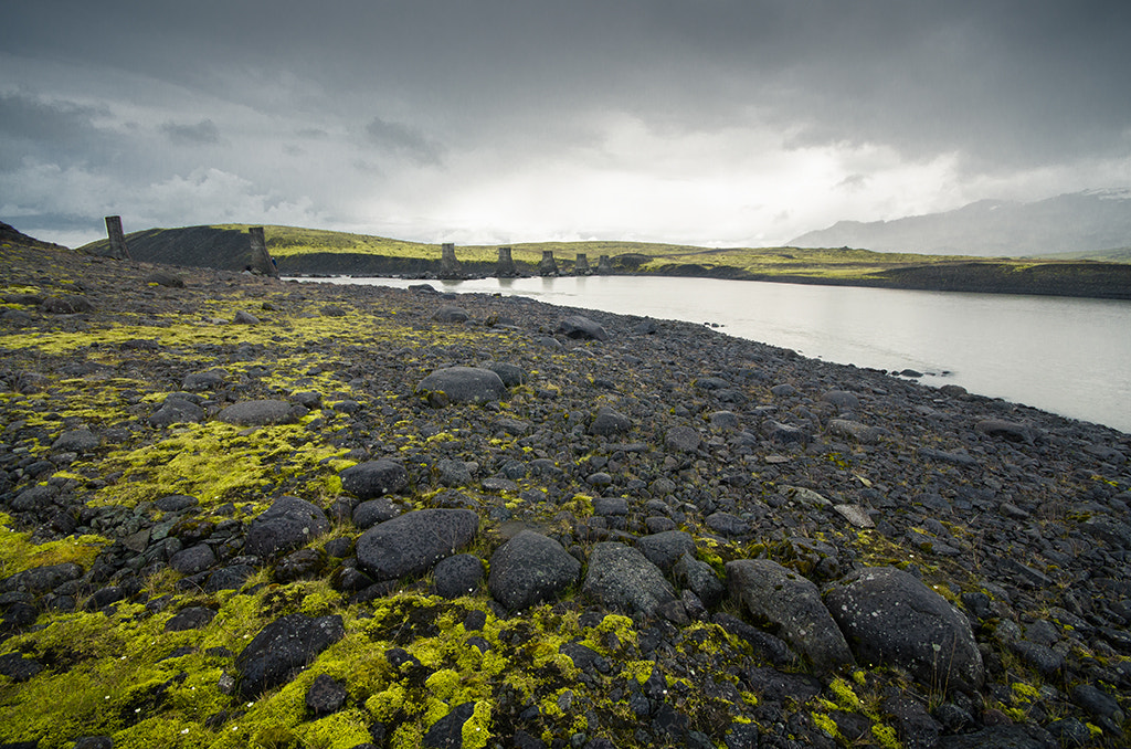
[[[152,229],[127,235],[136,260],[241,270],[248,224]],[[283,275],[428,275],[440,269],[439,244],[295,226],[265,226],[267,249]],[[97,251],[105,240],[80,248]],[[1131,299],[1131,262],[1077,258],[975,258],[874,252],[851,248],[705,248],[650,242],[523,242],[511,244],[520,270],[535,273],[544,251],[561,273],[572,273],[585,253],[590,267],[602,255],[615,273],[783,281],[793,283],[1054,294]],[[1112,252],[1112,259],[1131,255]],[[461,244],[456,257],[470,275],[494,272],[498,246]],[[1131,257],[1129,257],[1131,259]]]

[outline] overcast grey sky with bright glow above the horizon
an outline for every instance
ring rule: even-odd
[[[1131,187],[1131,2],[6,3],[0,221],[768,246]]]

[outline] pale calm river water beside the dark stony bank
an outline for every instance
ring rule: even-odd
[[[400,278],[329,279],[406,287]],[[1073,419],[1131,432],[1131,302],[589,276],[431,282],[443,291],[718,325],[720,332],[830,362],[923,372]]]

